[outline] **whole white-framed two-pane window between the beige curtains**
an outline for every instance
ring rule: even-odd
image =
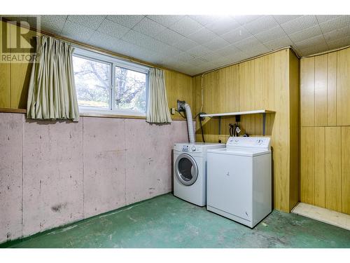
[[[77,48],[73,69],[81,112],[146,115],[148,67]]]

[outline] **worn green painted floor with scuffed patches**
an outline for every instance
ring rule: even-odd
[[[0,247],[350,248],[350,231],[276,210],[249,229],[166,194]]]

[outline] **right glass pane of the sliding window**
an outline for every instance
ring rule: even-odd
[[[116,67],[116,109],[146,112],[146,74]]]

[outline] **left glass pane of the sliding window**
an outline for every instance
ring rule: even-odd
[[[73,56],[80,106],[109,109],[111,65]]]

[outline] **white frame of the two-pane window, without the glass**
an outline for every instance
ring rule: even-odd
[[[99,109],[88,106],[79,106],[79,112],[87,114],[113,114],[113,115],[122,115],[122,116],[146,116],[146,112],[137,112],[130,109],[116,109],[114,99],[116,97],[116,67],[123,69],[132,70],[134,72],[139,72],[146,74],[146,110],[147,110],[147,97],[148,97],[148,77],[150,67],[139,65],[135,62],[129,62],[126,60],[121,60],[120,58],[115,58],[110,55],[104,55],[102,53],[97,53],[94,51],[86,50],[83,48],[75,47],[73,51],[73,57],[83,58],[85,60],[92,60],[95,62],[104,63],[110,65],[111,72],[109,76],[109,108],[108,109]],[[73,65],[74,66],[74,65]]]

